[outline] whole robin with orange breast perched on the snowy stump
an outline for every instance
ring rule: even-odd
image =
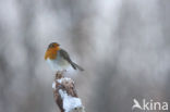
[[[70,65],[74,70],[84,71],[83,67],[74,63],[69,53],[60,48],[57,42],[51,42],[45,53],[45,60],[49,63],[53,71],[65,71]]]

